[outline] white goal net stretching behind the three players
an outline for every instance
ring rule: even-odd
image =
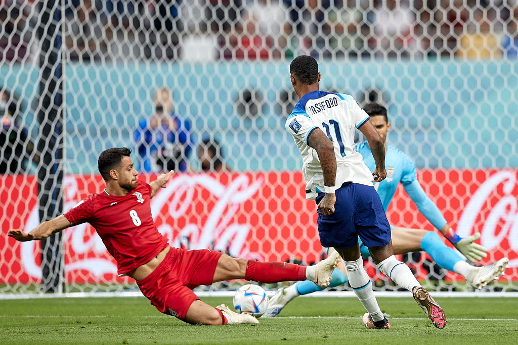
[[[0,2],[0,297],[138,291],[117,277],[88,224],[41,242],[5,236],[102,190],[96,159],[114,146],[132,148],[145,181],[176,171],[151,200],[171,245],[320,260],[316,206],[305,199],[300,154],[284,129],[298,100],[289,64],[300,54],[318,60],[322,89],[387,107],[387,143],[414,159],[423,189],[459,235],[482,234],[489,253],[478,264],[509,258],[506,276],[486,290],[516,291],[518,4],[483,4]],[[437,231],[402,188],[387,217]],[[395,290],[365,259],[377,289]],[[423,252],[402,259],[427,287],[471,291]]]

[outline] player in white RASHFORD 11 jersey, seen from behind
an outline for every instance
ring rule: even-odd
[[[372,260],[387,277],[412,292],[415,301],[437,328],[446,318],[410,268],[394,256],[391,230],[372,182],[386,177],[385,145],[369,116],[348,95],[319,91],[320,72],[315,59],[297,56],[290,64],[290,79],[300,97],[285,128],[303,158],[306,197],[318,205],[320,243],[334,247],[346,266],[351,288],[367,310],[367,328],[391,328],[372,292],[365,272],[358,237]],[[354,146],[354,128],[367,138],[375,161],[371,173]]]

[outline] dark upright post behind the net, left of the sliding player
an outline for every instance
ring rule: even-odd
[[[40,221],[63,213],[63,66],[62,7],[59,2],[41,2],[37,37],[39,56],[39,100],[37,107],[38,138],[38,211]],[[63,235],[56,233],[41,241],[41,289],[63,292]]]

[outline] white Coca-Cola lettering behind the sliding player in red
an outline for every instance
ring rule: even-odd
[[[159,216],[164,216],[166,219],[182,217],[192,203],[198,202],[194,199],[195,190],[205,188],[215,202],[201,229],[192,223],[186,224],[183,229],[172,229],[165,221],[159,226],[159,231],[169,239],[172,246],[178,247],[180,238],[188,236],[191,238],[191,249],[207,248],[213,244],[216,250],[228,248],[234,256],[246,257],[249,253],[244,251],[244,242],[250,232],[250,224],[232,222],[232,216],[240,204],[253,197],[263,181],[262,177],[258,177],[250,182],[248,176],[237,175],[228,185],[223,185],[213,176],[206,174],[177,175],[168,182],[166,188],[160,189],[151,199],[151,213],[154,220]],[[75,177],[65,177],[64,190],[66,196],[64,209],[67,211],[79,201],[77,200],[79,188]],[[38,224],[38,207],[35,206],[25,223],[24,231],[31,231]],[[89,224],[84,223],[66,229],[64,242],[65,248],[69,249],[68,260],[65,260],[65,273],[85,270],[95,277],[117,274],[117,266],[109,258],[102,239],[92,231]],[[228,246],[229,242],[231,242],[230,246]],[[28,275],[39,279],[41,268],[36,262],[35,246],[34,241],[21,244],[21,262]]]

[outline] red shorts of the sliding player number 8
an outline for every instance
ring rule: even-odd
[[[172,248],[164,261],[146,278],[137,281],[151,304],[165,314],[185,320],[185,314],[198,296],[191,290],[210,285],[223,253],[210,249]]]

